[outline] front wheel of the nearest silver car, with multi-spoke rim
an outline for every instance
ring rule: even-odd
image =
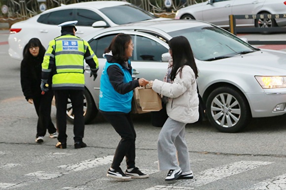
[[[251,112],[246,97],[237,89],[219,87],[207,99],[207,116],[220,132],[238,132],[246,127]]]

